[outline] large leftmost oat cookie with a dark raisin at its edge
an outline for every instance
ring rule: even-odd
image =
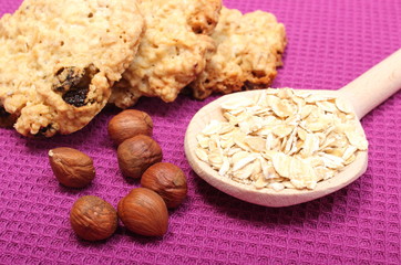
[[[71,134],[105,106],[137,51],[136,0],[25,0],[0,20],[1,124]]]

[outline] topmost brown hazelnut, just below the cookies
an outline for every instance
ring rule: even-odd
[[[115,145],[136,136],[153,134],[153,121],[146,113],[136,109],[126,109],[115,115],[107,127],[109,136]]]

